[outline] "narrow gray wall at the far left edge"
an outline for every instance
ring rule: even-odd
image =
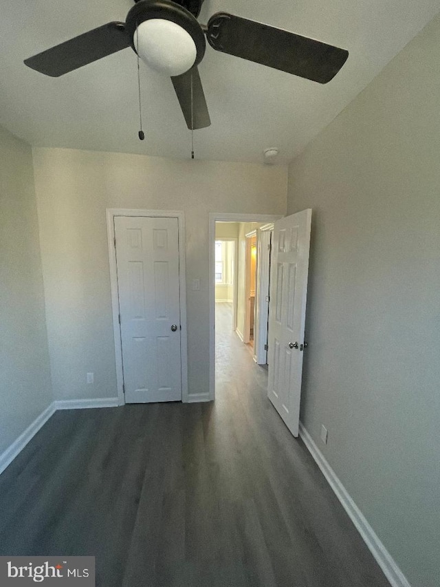
[[[32,151],[0,127],[0,454],[52,402]]]

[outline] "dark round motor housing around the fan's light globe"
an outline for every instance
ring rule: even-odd
[[[201,62],[206,50],[205,34],[201,25],[186,8],[171,0],[138,0],[135,6],[130,9],[129,14],[126,15],[125,27],[129,33],[131,48],[134,52],[136,52],[133,42],[135,30],[140,23],[149,19],[165,19],[186,30],[192,37],[197,50],[193,67]]]

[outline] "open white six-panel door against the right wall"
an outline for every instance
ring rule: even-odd
[[[298,436],[311,210],[274,223],[270,275],[267,396]]]

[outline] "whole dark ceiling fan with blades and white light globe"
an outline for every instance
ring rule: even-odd
[[[201,25],[203,0],[135,0],[126,21],[80,34],[28,59],[25,65],[58,77],[131,46],[148,65],[171,77],[188,129],[210,125],[197,65],[206,39],[216,51],[319,83],[329,82],[349,52],[292,32],[217,12]]]

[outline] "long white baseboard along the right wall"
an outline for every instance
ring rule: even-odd
[[[300,437],[303,439],[304,444],[313,456],[316,464],[321,469],[323,475],[329,482],[331,489],[335,493],[338,500],[341,502],[344,510],[348,513],[351,521],[355,525],[356,529],[362,536],[366,546],[369,547],[371,554],[375,557],[377,564],[384,571],[384,575],[390,581],[393,587],[411,587],[406,579],[404,573],[401,572],[399,566],[393,559],[390,553],[386,550],[385,546],[379,540],[373,528],[371,528],[369,522],[366,521],[362,511],[355,504],[347,489],[342,485],[335,471],[330,467],[329,463],[325,459],[320,449],[316,446],[313,438],[305,429],[303,423],[300,422]]]

